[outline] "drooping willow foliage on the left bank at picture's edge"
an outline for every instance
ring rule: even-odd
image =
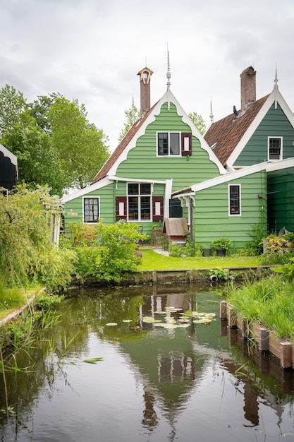
[[[0,194],[0,284],[5,287],[41,282],[52,290],[69,282],[75,253],[54,245],[61,210],[49,190],[21,185],[8,196]]]

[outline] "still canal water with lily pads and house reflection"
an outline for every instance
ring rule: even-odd
[[[219,320],[223,287],[73,289],[6,374],[4,442],[294,441],[293,373]],[[33,364],[32,364],[33,362]],[[1,380],[0,408],[5,406]]]

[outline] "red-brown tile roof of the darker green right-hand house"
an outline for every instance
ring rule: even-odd
[[[207,133],[204,135],[205,141],[212,148],[214,147],[214,153],[219,158],[221,164],[226,166],[228,157],[233,153],[236,145],[238,145],[240,139],[243,137],[252,121],[257,116],[259,110],[262,108],[269,95],[255,101],[250,104],[250,107],[243,115],[234,119],[234,114],[228,115],[216,123],[213,123],[209,127]],[[240,114],[240,111],[238,111]]]

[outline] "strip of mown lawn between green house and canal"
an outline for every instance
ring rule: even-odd
[[[142,263],[137,270],[189,270],[196,268],[254,267],[260,265],[258,256],[209,256],[172,258],[159,255],[153,249],[140,249]]]

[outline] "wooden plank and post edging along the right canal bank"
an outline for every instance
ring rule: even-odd
[[[294,369],[294,345],[286,338],[278,338],[273,330],[257,321],[248,323],[227,301],[221,301],[219,316],[229,328],[238,328],[244,339],[252,339],[259,352],[269,352],[280,361],[281,369]]]

